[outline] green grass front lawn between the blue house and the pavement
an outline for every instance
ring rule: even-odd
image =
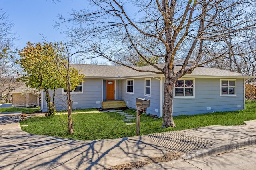
[[[134,110],[124,111],[136,117]],[[136,124],[126,125],[124,115],[116,112],[74,114],[74,134],[68,134],[67,115],[54,117],[32,117],[20,122],[23,131],[38,135],[50,135],[80,140],[110,139],[136,135]],[[210,125],[243,125],[243,121],[256,119],[256,102],[246,102],[246,110],[233,112],[216,112],[198,115],[180,115],[174,117],[176,128],[162,129],[162,118],[153,119],[141,115],[140,135],[192,129]],[[136,122],[132,119],[131,122]]]

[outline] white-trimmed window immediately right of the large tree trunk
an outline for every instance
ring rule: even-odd
[[[193,79],[179,79],[175,82],[174,97],[194,97],[194,83]]]

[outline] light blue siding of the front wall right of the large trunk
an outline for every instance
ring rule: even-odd
[[[220,78],[196,78],[194,98],[174,98],[173,115],[244,109],[244,80],[236,80],[236,96],[220,96]],[[240,106],[238,108],[238,106]],[[210,107],[210,110],[206,108]]]

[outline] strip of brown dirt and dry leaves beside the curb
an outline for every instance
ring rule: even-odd
[[[122,165],[112,166],[102,170],[132,170],[136,168],[141,168],[144,165],[148,165],[152,163],[161,163],[161,162],[168,162],[171,160],[175,160],[180,158],[182,154],[183,154],[182,152],[169,152],[164,156],[146,158],[144,161],[130,162]]]

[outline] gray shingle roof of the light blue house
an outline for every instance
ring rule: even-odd
[[[164,68],[164,63],[156,64],[160,68]],[[105,65],[84,65],[84,64],[71,64],[71,67],[80,70],[87,78],[129,78],[138,76],[157,76],[152,72],[138,72],[125,66],[105,66]],[[160,72],[152,66],[134,67],[139,70],[150,70]],[[181,66],[174,66],[174,71],[177,71]],[[220,70],[216,68],[198,67],[190,75],[191,77],[240,77],[240,78],[254,78],[254,76],[247,76],[236,72]]]

